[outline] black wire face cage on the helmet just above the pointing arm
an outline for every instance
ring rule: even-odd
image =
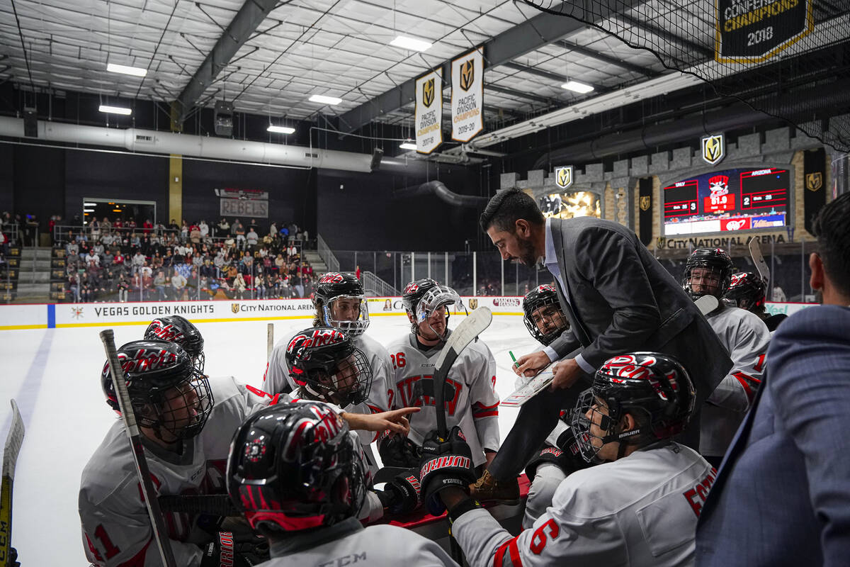
[[[369,397],[372,371],[369,360],[360,349],[348,354],[331,369],[293,369],[292,379],[305,392],[320,401],[346,407],[362,404]],[[342,384],[342,387],[341,387]]]

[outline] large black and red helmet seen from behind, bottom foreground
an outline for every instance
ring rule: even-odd
[[[236,430],[227,490],[266,536],[336,524],[354,517],[365,499],[359,442],[326,404],[270,405]]]

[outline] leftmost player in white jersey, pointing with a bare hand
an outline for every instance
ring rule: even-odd
[[[187,321],[188,322],[188,321]],[[118,349],[124,379],[139,422],[144,453],[156,490],[164,496],[224,494],[229,439],[244,418],[280,399],[235,382],[207,379],[176,343],[134,341]],[[108,363],[101,374],[107,404],[118,411]],[[404,411],[397,412],[404,414]],[[352,427],[404,433],[404,417],[341,413]],[[139,477],[122,421],[116,422],[82,473],[79,494],[83,547],[99,567],[161,565]],[[179,565],[218,567],[220,518],[166,513],[173,553]],[[256,541],[241,542],[245,561],[257,563]],[[203,553],[212,553],[202,559]],[[241,559],[235,558],[234,564]]]

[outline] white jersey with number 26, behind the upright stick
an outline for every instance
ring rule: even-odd
[[[433,373],[441,349],[420,350],[416,336],[410,333],[389,343],[387,350],[394,363],[395,387],[390,393],[390,406],[428,406],[410,416],[409,437],[422,445],[425,435],[437,428]],[[485,448],[498,451],[500,445],[496,359],[483,341],[469,343],[458,354],[445,379],[445,387],[446,426],[461,428],[477,467],[485,462]]]

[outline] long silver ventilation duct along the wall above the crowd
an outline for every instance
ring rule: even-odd
[[[100,128],[64,122],[37,124],[38,139],[65,144],[123,148],[139,153],[176,154],[211,160],[268,163],[292,167],[324,167],[351,172],[371,171],[371,154],[320,150],[298,145],[249,142],[241,139],[209,138],[184,133],[158,132],[139,128]],[[24,138],[24,120],[0,116],[0,136]],[[425,172],[425,162],[383,157],[382,166],[404,167],[408,173]],[[389,171],[394,171],[390,169]],[[401,173],[399,171],[399,173]]]

